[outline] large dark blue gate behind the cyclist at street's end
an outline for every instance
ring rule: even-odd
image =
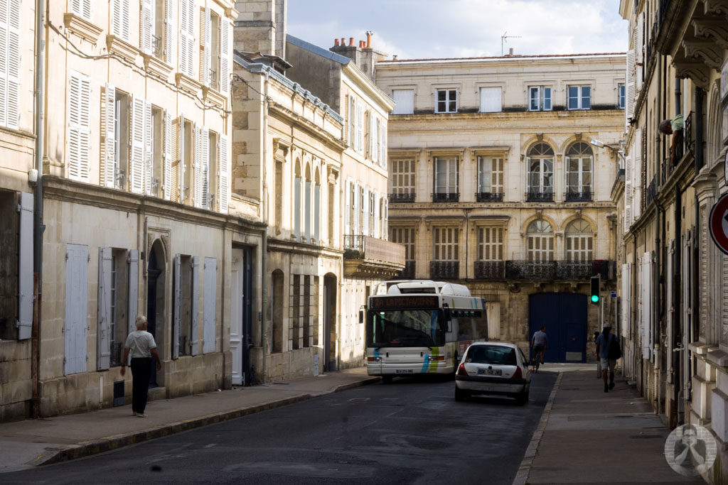
[[[587,295],[534,293],[529,295],[529,345],[534,332],[546,327],[547,362],[584,362],[587,342]],[[533,349],[531,349],[531,357]]]

